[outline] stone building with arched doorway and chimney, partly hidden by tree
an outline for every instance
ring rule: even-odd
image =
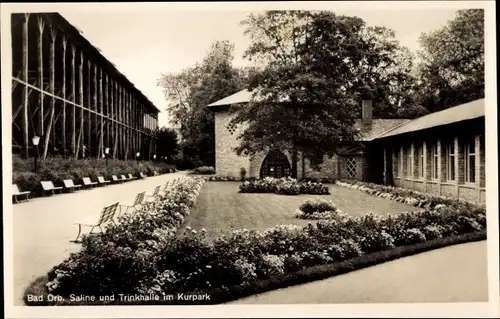
[[[237,136],[243,126],[231,133],[228,124],[232,119],[229,112],[231,105],[244,107],[251,99],[252,93],[243,90],[214,102],[209,107],[215,113],[215,170],[221,176],[240,176],[241,168],[245,168],[249,177],[282,177],[291,172],[291,157],[288,152],[270,150],[268,153],[252,157],[238,156],[233,151],[239,145]],[[363,101],[362,119],[356,122],[361,138],[354,143],[346,143],[332,158],[325,157],[319,170],[311,168],[309,161],[298,154],[297,176],[300,178],[338,179],[348,178],[369,180],[368,160],[369,143],[379,135],[407,122],[404,119],[373,119],[371,101]]]

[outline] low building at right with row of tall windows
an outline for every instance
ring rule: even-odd
[[[410,121],[375,141],[386,184],[485,202],[484,99]]]

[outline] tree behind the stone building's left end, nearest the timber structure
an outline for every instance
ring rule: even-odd
[[[233,50],[228,41],[217,41],[200,63],[163,74],[158,82],[172,122],[179,127],[182,151],[196,165],[215,164],[214,117],[207,105],[241,90],[242,76],[249,72],[232,66]]]

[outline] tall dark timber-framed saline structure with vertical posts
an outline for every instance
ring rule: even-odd
[[[12,148],[151,159],[160,110],[58,13],[11,15]]]

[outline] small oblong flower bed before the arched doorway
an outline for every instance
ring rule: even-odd
[[[290,177],[248,180],[240,185],[241,193],[276,193],[282,195],[328,195],[327,185],[317,182],[303,182]]]

